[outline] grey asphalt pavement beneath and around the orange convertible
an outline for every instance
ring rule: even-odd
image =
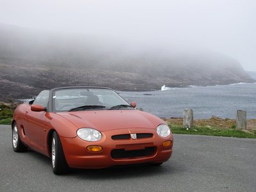
[[[52,173],[51,160],[12,150],[10,125],[0,125],[0,191],[256,191],[256,140],[174,136],[161,166]]]

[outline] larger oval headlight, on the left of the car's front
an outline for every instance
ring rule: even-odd
[[[99,141],[102,137],[101,133],[92,128],[81,128],[77,130],[77,136],[86,141]]]

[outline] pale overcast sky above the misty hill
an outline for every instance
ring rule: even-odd
[[[218,51],[256,71],[255,0],[0,0],[0,22]]]

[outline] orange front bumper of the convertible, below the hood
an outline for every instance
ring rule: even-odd
[[[153,136],[151,138],[135,140],[131,138],[113,140],[111,138],[113,135],[131,133],[152,133]],[[60,139],[68,166],[72,168],[94,169],[124,164],[163,163],[172,156],[172,134],[167,138],[161,138],[156,133],[156,129],[118,129],[106,131],[102,132],[100,141],[94,142],[84,141],[78,137],[61,137]],[[171,141],[171,146],[164,147],[164,141]],[[102,147],[102,151],[89,152],[87,147],[90,145],[99,145]],[[125,154],[125,157],[122,157],[122,154]]]

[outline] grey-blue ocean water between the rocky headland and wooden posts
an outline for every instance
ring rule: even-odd
[[[165,88],[154,92],[118,92],[137,108],[159,117],[182,117],[184,109],[193,109],[195,119],[236,118],[237,110],[247,111],[247,118],[256,118],[256,83],[216,86]]]

